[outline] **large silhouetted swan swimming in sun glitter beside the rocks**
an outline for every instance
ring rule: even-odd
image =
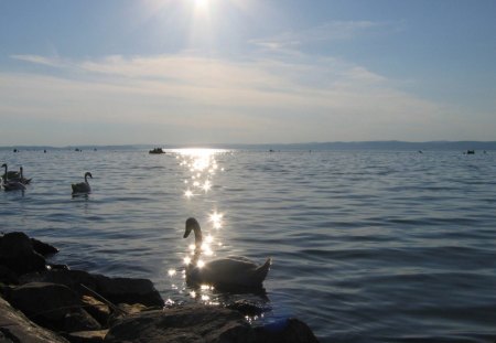
[[[262,282],[269,272],[271,258],[267,258],[261,266],[246,257],[228,256],[205,262],[202,267],[196,265],[202,248],[202,229],[195,218],[186,221],[184,237],[191,232],[195,235],[195,255],[193,264],[186,267],[186,282],[190,285],[208,283],[224,289],[256,289],[262,288]]]

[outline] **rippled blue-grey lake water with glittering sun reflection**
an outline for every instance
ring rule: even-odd
[[[494,342],[496,152],[0,151],[32,184],[0,229],[72,269],[149,278],[169,302],[248,297],[321,342]],[[71,183],[90,171],[93,193]],[[188,289],[198,219],[213,256],[273,258],[266,296]],[[205,259],[208,259],[205,256]]]

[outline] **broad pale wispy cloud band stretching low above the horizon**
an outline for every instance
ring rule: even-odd
[[[433,139],[446,137],[444,122],[453,118],[453,108],[330,57],[13,58],[67,73],[0,73],[2,116],[139,126],[143,130],[134,140],[141,142]],[[405,132],[411,136],[399,136]]]

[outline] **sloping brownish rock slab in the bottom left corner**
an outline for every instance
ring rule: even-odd
[[[40,328],[0,298],[0,342],[68,343],[52,331]]]

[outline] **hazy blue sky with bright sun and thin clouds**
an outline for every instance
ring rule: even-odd
[[[496,140],[494,0],[0,0],[0,146]]]

